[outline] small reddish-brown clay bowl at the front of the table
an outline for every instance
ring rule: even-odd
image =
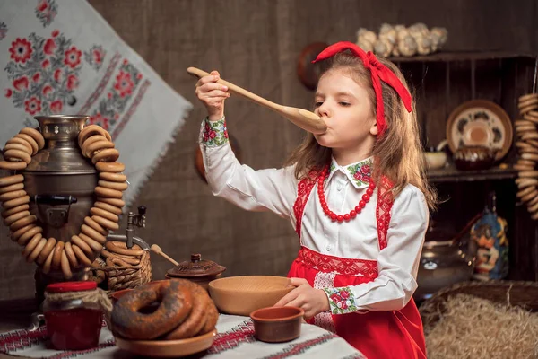
[[[289,342],[300,336],[305,311],[298,307],[269,307],[250,313],[256,339],[268,343]]]

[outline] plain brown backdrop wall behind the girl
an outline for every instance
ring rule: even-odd
[[[285,275],[298,243],[290,223],[214,198],[195,173],[195,141],[204,109],[195,101],[187,66],[219,69],[223,77],[268,99],[308,107],[312,93],[295,73],[301,48],[314,41],[354,41],[360,27],[377,30],[383,22],[425,22],[447,28],[447,49],[538,50],[534,0],[443,0],[435,7],[426,0],[90,3],[165,81],[195,103],[176,143],[135,201],[135,206],[148,207],[148,225],[139,234],[178,260],[201,252],[228,267],[227,275]],[[430,87],[426,93],[436,96]],[[443,127],[446,113],[439,109],[429,123]],[[227,116],[243,161],[254,168],[279,166],[301,137],[296,127],[247,101],[229,101]],[[431,136],[437,141],[442,135]],[[0,229],[0,299],[31,296],[34,267],[23,262],[21,249],[6,235],[5,228]],[[170,267],[155,256],[152,263],[158,278]]]

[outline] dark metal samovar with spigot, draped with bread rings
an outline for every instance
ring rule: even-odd
[[[45,138],[45,147],[36,153],[24,175],[24,188],[30,196],[30,213],[38,217],[45,238],[70,241],[78,234],[84,217],[89,215],[95,202],[94,189],[99,173],[91,161],[82,155],[78,135],[89,116],[50,115],[38,116],[39,130]],[[150,250],[147,242],[134,235],[134,227],[145,226],[145,207],[138,207],[138,214],[128,213],[126,234],[108,234],[108,241],[133,243],[143,250]],[[69,280],[88,279],[89,268],[73,270]],[[45,287],[50,283],[65,281],[61,271],[47,274],[38,267],[35,273],[36,300],[40,304]]]

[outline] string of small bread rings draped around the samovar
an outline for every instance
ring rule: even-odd
[[[0,178],[2,217],[4,224],[10,227],[12,240],[24,247],[22,256],[27,262],[36,262],[45,274],[61,270],[65,279],[73,276],[75,268],[91,267],[107,241],[108,232],[119,228],[119,215],[125,206],[123,191],[127,188],[126,176],[122,173],[125,166],[116,162],[119,153],[106,130],[97,125],[84,127],[78,143],[82,154],[100,171],[100,180],[95,188],[97,201],[84,218],[81,232],[66,242],[43,237],[37,217],[30,214],[24,176],[16,173],[26,169],[31,157],[45,146],[41,133],[34,128],[22,128],[5,144],[5,161],[0,162],[0,170],[12,171],[11,175]]]

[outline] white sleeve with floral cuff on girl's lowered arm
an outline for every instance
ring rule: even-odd
[[[377,257],[378,276],[361,285],[325,288],[331,311],[398,311],[417,288],[421,250],[428,227],[429,210],[419,188],[408,185],[395,198],[386,234],[386,248]]]

